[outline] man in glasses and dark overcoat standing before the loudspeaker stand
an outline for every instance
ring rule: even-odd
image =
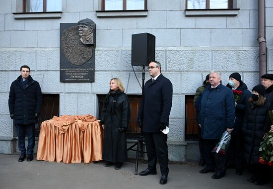
[[[166,184],[169,173],[167,134],[161,131],[169,125],[173,86],[161,74],[159,62],[152,61],[149,64],[149,75],[152,79],[145,83],[144,95],[137,116],[138,125],[143,126],[148,168],[139,175],[155,175],[158,159],[161,172],[160,184]]]

